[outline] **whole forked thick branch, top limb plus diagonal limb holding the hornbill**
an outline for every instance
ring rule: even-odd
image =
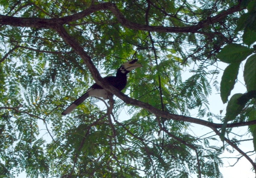
[[[86,52],[84,52],[83,48],[78,45],[76,40],[73,39],[73,37],[70,37],[70,35],[66,32],[62,24],[69,23],[78,19],[81,19],[87,15],[90,15],[93,12],[102,10],[102,9],[109,9],[112,11],[112,13],[116,16],[116,18],[119,20],[119,22],[128,28],[131,29],[137,29],[137,30],[146,30],[146,31],[155,31],[155,32],[195,32],[198,29],[204,28],[205,26],[208,26],[212,23],[217,22],[218,20],[223,19],[224,17],[227,17],[227,15],[232,14],[236,11],[240,11],[240,5],[234,6],[226,11],[221,12],[220,14],[216,15],[215,17],[209,18],[207,20],[204,20],[198,25],[195,26],[189,26],[189,27],[163,27],[163,26],[147,26],[147,25],[140,25],[137,23],[132,23],[125,19],[125,17],[122,15],[121,11],[116,7],[113,3],[102,3],[99,5],[92,5],[88,9],[85,9],[84,11],[81,11],[77,14],[61,17],[61,18],[52,18],[52,19],[40,19],[40,18],[22,18],[22,17],[9,17],[0,15],[0,23],[3,25],[11,25],[11,26],[22,26],[22,27],[35,27],[35,28],[52,28],[55,29],[58,34],[65,40],[65,42],[70,45],[77,53],[81,56],[81,58],[84,60],[84,63],[88,66],[91,74],[93,75],[94,80],[96,83],[98,83],[100,86],[104,87],[109,92],[116,95],[118,98],[125,101],[127,104],[131,104],[134,106],[141,107],[143,109],[146,109],[148,112],[153,113],[156,116],[163,117],[163,118],[169,118],[177,121],[186,121],[191,123],[197,123],[201,124],[203,126],[208,126],[210,128],[219,128],[221,127],[221,124],[211,123],[208,121],[204,121],[197,118],[191,118],[186,116],[180,116],[175,114],[170,114],[168,112],[160,111],[159,109],[154,108],[153,106],[149,105],[148,103],[143,103],[139,100],[134,100],[132,98],[129,98],[128,96],[124,95],[122,92],[118,91],[113,86],[110,86],[105,81],[102,81],[102,77],[100,76],[98,70],[93,65],[90,56],[87,55]],[[3,59],[2,59],[3,60]],[[247,125],[247,123],[243,123]],[[237,124],[231,124],[230,127],[233,126],[240,126]]]

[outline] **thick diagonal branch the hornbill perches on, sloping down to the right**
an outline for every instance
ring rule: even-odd
[[[190,122],[190,123],[196,123],[196,124],[200,124],[203,126],[207,126],[212,129],[221,128],[222,124],[212,123],[212,122],[208,122],[208,121],[204,121],[201,119],[192,118],[192,117],[188,117],[188,116],[176,115],[176,114],[171,114],[168,112],[163,112],[163,111],[155,108],[154,106],[151,106],[148,103],[144,103],[142,101],[135,100],[133,98],[128,97],[127,95],[125,95],[122,92],[120,92],[119,90],[117,90],[115,87],[111,86],[106,81],[102,80],[102,77],[100,76],[99,71],[96,69],[93,62],[91,61],[90,56],[87,55],[87,53],[83,50],[83,48],[81,46],[79,46],[79,43],[77,43],[76,40],[66,32],[66,30],[64,29],[63,26],[57,25],[57,26],[55,26],[55,30],[56,30],[56,32],[58,32],[58,34],[60,34],[60,36],[65,40],[65,42],[68,45],[70,45],[73,48],[73,50],[75,52],[77,52],[77,54],[80,55],[80,57],[84,60],[84,63],[87,65],[87,67],[90,70],[90,72],[93,76],[93,79],[96,81],[96,83],[99,84],[100,86],[102,86],[107,91],[116,95],[118,98],[123,100],[126,104],[131,104],[131,105],[146,109],[148,112],[151,112],[158,117],[163,117],[163,118],[172,119],[172,120],[176,120],[176,121],[185,121],[185,122]],[[252,125],[255,123],[256,123],[256,121],[250,121],[250,122],[244,122],[244,123],[233,123],[233,124],[228,124],[227,127],[245,126],[245,125]],[[239,124],[241,124],[241,125],[239,125]]]

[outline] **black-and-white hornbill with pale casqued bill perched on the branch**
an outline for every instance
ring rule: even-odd
[[[130,60],[126,63],[123,63],[122,66],[116,72],[116,76],[108,76],[103,78],[103,80],[108,81],[112,86],[116,87],[120,91],[125,88],[127,83],[127,74],[138,67],[142,67],[140,63],[137,63],[138,59]],[[99,86],[97,83],[94,83],[89,89],[87,89],[86,93],[82,95],[80,98],[75,100],[70,106],[67,107],[61,114],[66,115],[72,112],[76,106],[81,104],[86,98],[89,96],[95,96],[103,98],[104,100],[107,99],[107,91]]]

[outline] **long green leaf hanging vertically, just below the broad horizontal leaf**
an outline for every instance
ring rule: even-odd
[[[223,103],[227,103],[227,98],[230,95],[231,90],[234,88],[239,65],[240,63],[231,63],[224,70],[221,78],[221,100]]]

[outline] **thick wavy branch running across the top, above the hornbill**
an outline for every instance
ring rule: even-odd
[[[234,12],[241,11],[240,4],[237,6],[233,6],[226,11],[220,12],[218,15],[214,17],[209,17],[207,20],[203,20],[199,22],[195,26],[187,26],[187,27],[166,27],[166,26],[149,26],[149,25],[141,25],[138,23],[133,23],[127,20],[121,11],[116,7],[114,3],[101,3],[98,5],[92,5],[89,8],[81,11],[79,13],[60,17],[60,18],[23,18],[23,17],[10,17],[6,15],[0,15],[0,24],[2,25],[10,25],[10,26],[20,26],[20,27],[32,27],[32,28],[54,28],[56,24],[63,25],[67,24],[83,17],[86,17],[93,12],[100,10],[110,10],[114,16],[117,18],[119,23],[122,26],[125,26],[129,29],[134,30],[143,30],[149,32],[172,32],[172,33],[195,33],[198,30],[212,25],[213,23],[218,22],[219,20],[224,19],[229,14],[233,14]]]

